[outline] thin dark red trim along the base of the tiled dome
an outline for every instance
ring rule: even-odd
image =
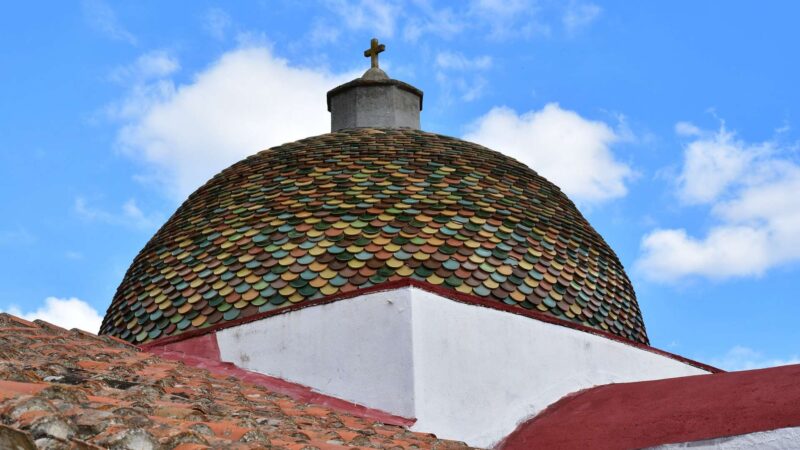
[[[530,317],[532,319],[536,319],[536,320],[539,320],[539,321],[542,321],[542,322],[546,322],[546,323],[549,323],[549,324],[552,324],[552,325],[558,325],[558,326],[561,326],[561,327],[572,328],[574,330],[583,331],[585,333],[593,334],[595,336],[604,337],[606,339],[611,339],[612,341],[621,342],[623,344],[630,345],[632,347],[636,347],[636,348],[641,349],[641,350],[652,352],[652,353],[655,353],[657,355],[666,356],[667,358],[671,358],[671,359],[680,361],[682,363],[689,364],[691,366],[697,367],[699,369],[702,369],[702,370],[705,370],[705,371],[708,371],[708,372],[711,372],[711,373],[722,372],[721,369],[718,369],[716,367],[710,366],[708,364],[703,364],[701,362],[698,362],[698,361],[695,361],[695,360],[692,360],[692,359],[689,359],[689,358],[685,358],[683,356],[676,355],[674,353],[670,353],[670,352],[667,352],[667,351],[664,351],[664,350],[661,350],[661,349],[657,349],[657,348],[651,347],[651,346],[646,345],[646,344],[640,344],[638,342],[634,342],[634,341],[631,341],[629,339],[625,339],[625,338],[623,338],[621,336],[617,336],[616,334],[609,333],[607,331],[598,330],[596,328],[588,327],[586,325],[575,323],[575,322],[568,322],[566,320],[561,320],[561,319],[558,319],[556,317],[550,316],[548,314],[544,314],[544,313],[542,313],[540,311],[531,311],[531,310],[520,308],[518,306],[506,305],[505,303],[500,303],[500,302],[498,302],[496,300],[487,300],[485,298],[481,298],[481,297],[478,297],[478,296],[475,296],[475,295],[472,295],[472,294],[464,294],[464,293],[461,293],[461,292],[458,292],[458,291],[454,291],[452,289],[448,289],[448,288],[445,288],[445,287],[442,287],[442,286],[436,286],[436,285],[433,285],[433,284],[430,284],[430,283],[426,283],[424,281],[419,281],[419,280],[416,280],[416,279],[413,279],[413,278],[403,278],[403,279],[400,279],[400,280],[387,281],[385,283],[376,284],[376,285],[373,285],[373,286],[370,286],[370,287],[367,287],[367,288],[363,288],[363,289],[357,289],[357,290],[351,291],[351,292],[345,292],[345,293],[338,293],[338,294],[330,295],[328,297],[324,297],[324,298],[321,298],[321,299],[318,299],[318,300],[306,300],[306,301],[303,301],[303,302],[300,302],[298,304],[295,304],[295,305],[292,305],[292,306],[288,306],[288,307],[285,307],[285,308],[280,308],[280,309],[276,309],[276,310],[273,310],[273,311],[267,311],[267,312],[264,312],[264,313],[254,314],[252,316],[242,317],[242,318],[239,318],[239,319],[236,319],[236,320],[231,320],[231,321],[228,321],[228,322],[222,322],[222,323],[219,323],[217,325],[212,325],[212,326],[206,327],[206,328],[199,328],[199,329],[195,329],[195,330],[189,330],[189,331],[185,331],[185,332],[183,332],[181,334],[177,334],[177,335],[173,335],[173,336],[163,337],[163,338],[160,338],[160,339],[156,339],[155,341],[152,341],[152,342],[144,343],[144,344],[140,345],[139,347],[142,348],[142,349],[149,349],[149,348],[151,348],[153,346],[159,346],[159,345],[169,344],[169,343],[173,343],[173,342],[179,342],[179,341],[182,341],[182,340],[185,340],[185,339],[189,339],[191,337],[201,336],[201,335],[204,335],[204,334],[207,334],[207,333],[211,333],[211,332],[216,332],[218,330],[222,330],[222,329],[225,329],[225,328],[235,327],[235,326],[242,325],[242,324],[245,324],[245,323],[254,322],[256,320],[261,320],[261,319],[263,319],[265,317],[271,317],[271,316],[275,316],[275,315],[278,315],[278,314],[286,314],[286,313],[290,313],[290,312],[293,312],[293,311],[301,310],[303,308],[308,308],[308,307],[318,306],[318,305],[325,305],[325,304],[333,303],[333,302],[339,301],[339,300],[344,300],[344,299],[353,298],[353,297],[366,295],[366,294],[372,294],[372,293],[375,293],[375,292],[390,291],[390,290],[404,288],[404,287],[415,287],[417,289],[422,289],[424,291],[428,291],[428,292],[434,293],[436,295],[440,295],[442,297],[449,298],[450,300],[455,300],[457,302],[467,303],[467,304],[470,304],[470,305],[482,306],[484,308],[496,309],[496,310],[508,312],[508,313],[511,313],[511,314]]]

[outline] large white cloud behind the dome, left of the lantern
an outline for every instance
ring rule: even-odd
[[[296,67],[263,46],[238,48],[176,85],[136,86],[111,108],[125,123],[122,151],[145,178],[183,199],[212,175],[259,150],[328,132],[328,90],[355,77]]]

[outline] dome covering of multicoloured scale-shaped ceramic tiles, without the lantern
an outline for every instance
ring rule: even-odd
[[[259,152],[147,243],[101,333],[143,343],[410,277],[647,343],[619,259],[524,164],[410,129]]]

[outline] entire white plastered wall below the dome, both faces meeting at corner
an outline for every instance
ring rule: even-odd
[[[706,373],[572,328],[401,288],[218,332],[224,361],[489,447],[564,395]]]

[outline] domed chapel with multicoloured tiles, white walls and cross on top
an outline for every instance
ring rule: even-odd
[[[575,204],[503,149],[424,131],[423,92],[380,68],[384,49],[373,39],[363,76],[320,99],[330,133],[189,196],[101,335],[475,447],[728,448],[797,429],[798,408],[764,419],[760,403],[793,372],[651,347],[623,265]]]

